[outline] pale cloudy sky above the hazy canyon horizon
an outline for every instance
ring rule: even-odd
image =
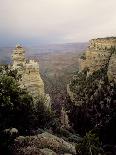
[[[0,46],[116,36],[116,0],[0,0]]]

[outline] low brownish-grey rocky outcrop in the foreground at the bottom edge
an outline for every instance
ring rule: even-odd
[[[18,137],[13,147],[14,155],[76,154],[75,145],[55,135],[44,132],[37,136]]]

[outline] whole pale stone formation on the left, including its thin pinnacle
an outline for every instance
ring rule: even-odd
[[[17,69],[18,74],[21,75],[19,81],[21,88],[26,88],[27,91],[34,97],[45,98],[46,106],[50,107],[49,94],[45,94],[44,82],[39,73],[39,64],[34,60],[25,59],[25,50],[17,45],[13,50],[12,55],[12,69]]]

